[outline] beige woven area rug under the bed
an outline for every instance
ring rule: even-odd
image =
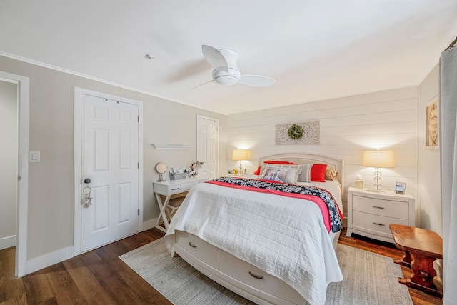
[[[326,304],[413,304],[408,288],[399,284],[400,266],[391,258],[338,244],[344,279],[331,283]],[[119,256],[151,286],[176,305],[254,304],[196,271],[179,256],[171,257],[158,239]]]

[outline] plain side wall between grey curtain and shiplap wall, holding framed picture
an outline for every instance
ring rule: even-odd
[[[439,66],[418,86],[418,226],[443,233],[441,217],[441,174],[438,149],[426,147],[426,107],[439,92]],[[438,101],[439,105],[439,101]],[[439,118],[438,118],[439,119]]]

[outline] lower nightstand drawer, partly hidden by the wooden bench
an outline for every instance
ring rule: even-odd
[[[403,224],[408,226],[408,219],[398,219],[378,215],[367,215],[359,211],[352,212],[352,224],[354,229],[360,229],[371,234],[384,234],[385,237],[393,238],[389,224]]]

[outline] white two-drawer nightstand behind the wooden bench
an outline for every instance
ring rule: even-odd
[[[393,243],[389,224],[416,226],[413,196],[393,191],[376,193],[366,189],[348,189],[348,229],[346,236],[359,234]]]

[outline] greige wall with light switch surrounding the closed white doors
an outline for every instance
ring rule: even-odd
[[[226,168],[226,116],[4,56],[0,71],[29,77],[29,149],[41,151],[41,162],[29,164],[27,261],[73,246],[75,86],[143,101],[144,221],[159,215],[152,189],[156,163],[189,166],[196,160],[196,148],[158,151],[151,141],[196,144],[197,114],[214,117],[219,119],[219,169]]]

